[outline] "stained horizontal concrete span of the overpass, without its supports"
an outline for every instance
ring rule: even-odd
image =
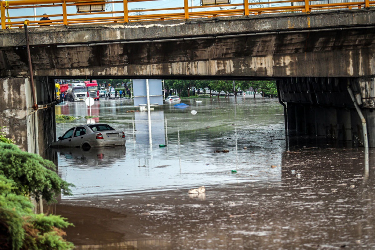
[[[374,20],[371,9],[30,28],[29,37],[36,76],[361,77],[375,76]],[[26,75],[24,31],[1,32],[0,75]]]

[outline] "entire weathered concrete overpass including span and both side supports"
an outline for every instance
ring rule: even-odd
[[[54,79],[275,79],[290,131],[375,147],[374,20],[366,8],[29,28],[34,110],[25,30],[1,30],[0,126],[47,152]]]

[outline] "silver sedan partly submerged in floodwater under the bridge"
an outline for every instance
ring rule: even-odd
[[[72,127],[51,147],[81,147],[87,150],[91,147],[123,146],[125,142],[123,131],[115,130],[107,124],[94,123]]]

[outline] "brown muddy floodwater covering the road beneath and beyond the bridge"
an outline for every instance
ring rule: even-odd
[[[75,187],[54,209],[74,223],[77,249],[375,249],[374,150],[287,142],[276,99],[200,100],[155,108],[151,143],[147,112],[95,102],[95,121],[127,142],[57,150],[58,173]],[[56,114],[88,109],[68,103]],[[57,135],[82,123],[58,124]],[[205,194],[187,193],[199,186]]]

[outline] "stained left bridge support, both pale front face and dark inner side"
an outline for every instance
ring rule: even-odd
[[[53,159],[49,145],[55,139],[55,116],[54,106],[48,101],[54,96],[54,84],[52,88],[51,82],[43,78],[36,78],[35,84],[37,96],[44,97],[38,99],[41,105],[37,111],[31,108],[33,102],[28,78],[0,79],[0,126],[6,126],[7,137],[22,150]]]

